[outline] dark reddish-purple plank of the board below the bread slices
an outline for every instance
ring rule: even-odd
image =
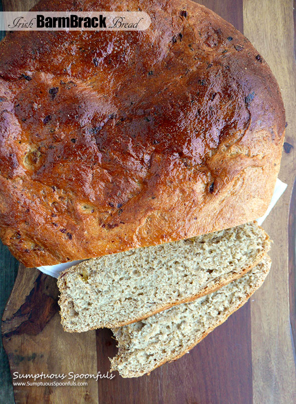
[[[103,371],[110,366],[107,356],[116,353],[115,341],[110,344],[111,335],[107,329],[97,331],[98,368]],[[245,305],[189,354],[150,376],[101,380],[99,398],[105,404],[251,404],[250,341],[250,308]]]

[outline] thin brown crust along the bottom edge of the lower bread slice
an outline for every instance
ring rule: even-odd
[[[215,324],[214,327],[212,327],[208,331],[204,332],[201,338],[196,339],[196,341],[194,341],[194,343],[192,345],[190,345],[189,347],[187,347],[182,353],[180,353],[177,356],[169,357],[169,358],[165,359],[163,362],[159,363],[157,366],[155,366],[153,369],[151,369],[150,372],[152,372],[156,368],[164,365],[167,362],[173,362],[173,361],[181,358],[182,356],[184,356],[187,352],[189,352],[192,348],[194,348],[200,341],[202,341],[207,335],[209,335],[210,332],[212,332],[216,327],[223,324],[228,319],[228,317],[231,316],[231,314],[233,314],[235,311],[240,309],[249,300],[249,298],[256,292],[256,290],[260,286],[262,286],[266,276],[269,273],[270,266],[271,266],[271,260],[270,260],[269,256],[265,256],[265,263],[264,263],[264,267],[262,270],[262,274],[261,274],[260,278],[257,280],[256,286],[246,295],[246,298],[240,303],[240,305],[235,307],[235,309],[233,311],[231,311],[230,313],[228,313],[227,315],[221,316],[221,318],[219,318],[219,321]],[[117,356],[118,355],[120,355],[120,350],[117,353]],[[116,369],[111,367],[110,372],[112,372],[113,370],[116,370]],[[150,372],[147,373],[147,375],[149,375]],[[145,373],[143,373],[143,374],[145,374]],[[122,375],[121,376],[122,377],[139,377],[139,376],[142,376],[143,374],[135,374],[135,372],[131,371],[129,376],[122,376]]]

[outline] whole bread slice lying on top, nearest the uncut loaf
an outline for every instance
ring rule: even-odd
[[[85,261],[58,279],[65,331],[118,327],[240,277],[270,248],[255,223]]]

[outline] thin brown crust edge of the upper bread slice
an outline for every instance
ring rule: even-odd
[[[263,229],[262,229],[262,230],[263,230]],[[264,232],[264,230],[263,230],[263,232]],[[264,233],[265,233],[265,232],[264,232]],[[222,279],[220,280],[220,282],[219,282],[218,284],[216,284],[214,287],[212,287],[212,288],[206,287],[206,288],[204,288],[200,293],[198,293],[198,294],[196,294],[196,295],[193,295],[193,296],[188,297],[188,298],[186,298],[186,299],[178,300],[177,302],[172,302],[172,303],[170,303],[170,304],[167,304],[166,306],[159,307],[157,310],[150,311],[149,313],[147,313],[147,314],[144,315],[144,316],[137,317],[137,318],[133,318],[133,319],[130,319],[130,318],[129,318],[129,319],[126,319],[125,321],[121,321],[121,322],[119,322],[119,323],[117,323],[117,324],[112,324],[112,323],[105,324],[104,327],[105,327],[105,328],[117,328],[117,327],[122,327],[122,326],[124,326],[124,325],[132,324],[132,323],[135,323],[135,322],[137,322],[137,321],[144,320],[145,318],[150,317],[150,316],[152,316],[152,315],[154,315],[154,314],[157,314],[157,313],[160,313],[160,312],[162,312],[162,311],[164,311],[164,310],[167,310],[167,309],[169,309],[169,308],[171,308],[171,307],[173,307],[173,306],[177,306],[178,304],[189,303],[189,302],[192,302],[192,301],[198,299],[199,297],[205,296],[205,295],[207,295],[207,294],[209,294],[209,293],[216,292],[216,291],[217,291],[218,289],[220,289],[221,287],[223,287],[223,286],[227,285],[228,283],[230,283],[230,282],[232,282],[232,281],[235,281],[236,279],[239,279],[240,277],[242,277],[244,274],[246,274],[246,273],[249,272],[251,269],[253,269],[255,266],[257,266],[257,265],[262,261],[262,259],[263,259],[264,257],[266,257],[266,254],[267,254],[267,252],[268,252],[269,249],[270,249],[270,239],[269,239],[269,236],[268,236],[266,233],[265,233],[265,242],[264,242],[263,245],[264,245],[264,248],[262,249],[262,251],[260,252],[260,254],[258,254],[258,256],[256,257],[256,260],[254,260],[254,262],[253,262],[251,265],[249,265],[248,267],[244,268],[242,271],[240,271],[240,272],[238,272],[238,273],[233,273],[233,272],[231,272],[231,273],[227,274],[227,276],[225,276],[224,278],[222,277]],[[267,256],[267,257],[268,257],[268,256]],[[266,259],[268,260],[269,257],[266,258]],[[71,267],[71,268],[69,268],[68,270],[65,270],[65,271],[61,274],[61,277],[58,278],[57,284],[58,284],[58,288],[59,288],[60,292],[62,291],[62,289],[65,288],[64,280],[63,280],[63,274],[65,274],[65,273],[69,274],[70,271],[71,271],[71,272],[75,272],[75,267]],[[60,307],[63,307],[63,305],[65,304],[65,300],[66,300],[66,299],[67,299],[67,298],[65,298],[65,297],[63,297],[63,298],[60,297],[60,299],[59,299],[59,301],[58,301]],[[87,329],[81,330],[81,331],[72,330],[72,329],[68,328],[68,327],[64,324],[64,318],[67,317],[67,315],[64,316],[62,310],[60,310],[60,315],[61,315],[61,324],[62,324],[62,326],[63,326],[64,331],[66,331],[66,332],[84,332],[84,331],[95,330],[95,329],[98,328],[97,326],[94,326],[94,327],[87,328]],[[67,322],[67,319],[66,319],[66,322]]]

